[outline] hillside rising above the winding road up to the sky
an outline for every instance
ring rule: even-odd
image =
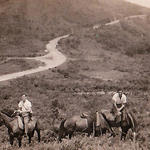
[[[120,0],[111,0],[111,3],[108,0],[2,0],[0,53],[3,56],[41,55],[45,42],[56,36],[74,32],[79,27],[145,13],[149,10]]]

